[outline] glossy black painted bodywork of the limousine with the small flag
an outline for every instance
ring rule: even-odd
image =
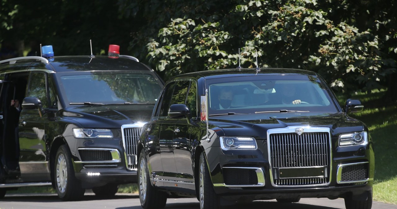
[[[228,78],[255,76],[255,69],[230,69],[187,73],[172,78],[168,83],[191,79],[197,83],[197,101],[205,94],[208,82],[225,81]],[[316,73],[295,69],[261,69],[258,75],[309,75],[323,79]],[[166,84],[167,85],[167,84]],[[335,112],[282,112],[282,113],[250,113],[237,115],[210,116],[207,124],[200,118],[170,118],[157,114],[161,108],[162,98],[155,105],[154,114],[147,123],[140,137],[140,148],[148,156],[149,172],[154,186],[180,196],[195,196],[197,189],[198,156],[205,153],[213,184],[223,184],[222,167],[260,167],[264,171],[265,186],[256,188],[233,189],[223,186],[214,187],[217,194],[236,200],[242,196],[249,199],[288,198],[289,194],[302,197],[343,197],[347,194],[361,194],[369,190],[372,181],[364,184],[337,184],[337,165],[360,161],[369,162],[369,178],[374,177],[374,153],[372,139],[368,133],[368,144],[362,146],[340,147],[339,135],[343,133],[367,131],[361,121],[350,117],[339,106],[335,95],[323,83],[335,105]],[[170,99],[170,98],[168,98]],[[160,104],[159,104],[160,103]],[[170,104],[173,105],[173,104]],[[174,107],[174,106],[173,106]],[[171,109],[171,108],[170,108]],[[198,104],[200,115],[200,104]],[[328,127],[331,135],[331,181],[329,186],[274,188],[270,182],[270,164],[268,158],[267,130],[289,126]],[[161,127],[161,128],[160,128]],[[173,130],[179,129],[179,132]],[[149,130],[149,131],[148,131]],[[245,136],[256,139],[257,150],[222,150],[220,136]],[[172,146],[170,138],[172,138]],[[164,144],[165,143],[165,144]],[[166,146],[164,146],[164,145]],[[172,158],[172,153],[173,158]],[[159,159],[160,158],[160,159]],[[161,166],[160,166],[161,162]],[[176,165],[176,166],[175,166]],[[320,170],[319,170],[320,171]],[[317,172],[317,171],[316,171]],[[158,179],[165,181],[156,181]],[[173,184],[178,182],[177,184]],[[195,182],[195,184],[192,184]],[[196,187],[195,187],[196,186]],[[304,193],[304,194],[303,194]]]

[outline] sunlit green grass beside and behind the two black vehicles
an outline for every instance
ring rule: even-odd
[[[357,93],[364,104],[364,111],[352,113],[351,117],[366,123],[370,130],[375,152],[374,200],[397,204],[397,104],[385,105],[382,96],[385,91],[373,91],[370,94]],[[338,96],[342,107],[346,99]],[[51,187],[19,188],[8,193],[55,193]],[[137,184],[125,184],[120,193],[137,193]]]

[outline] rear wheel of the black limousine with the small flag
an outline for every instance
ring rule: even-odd
[[[167,203],[167,194],[158,191],[150,182],[146,154],[141,151],[138,161],[138,191],[141,206],[144,209],[164,208]]]

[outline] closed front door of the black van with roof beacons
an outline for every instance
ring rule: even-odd
[[[30,73],[26,96],[39,98],[42,109],[21,110],[18,127],[21,177],[32,181],[48,180],[48,137],[45,130],[45,123],[48,123],[47,73]]]

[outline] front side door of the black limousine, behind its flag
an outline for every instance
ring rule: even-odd
[[[189,86],[186,86],[186,98],[183,104],[189,107],[193,119],[197,118],[197,84],[191,81]],[[185,91],[185,90],[183,90]],[[175,132],[173,137],[173,153],[175,158],[175,165],[177,169],[178,181],[185,182],[185,188],[194,190],[194,173],[193,173],[193,143],[190,133],[193,125],[187,118],[177,119]],[[191,185],[191,186],[189,186]]]

